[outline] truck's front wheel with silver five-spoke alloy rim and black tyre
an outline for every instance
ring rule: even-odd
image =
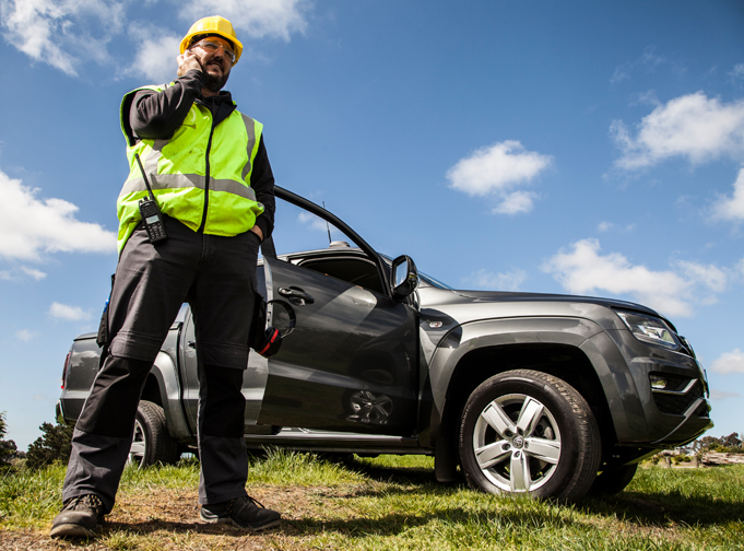
[[[471,488],[563,502],[589,491],[601,456],[587,401],[566,382],[530,370],[501,373],[473,391],[458,443]]]

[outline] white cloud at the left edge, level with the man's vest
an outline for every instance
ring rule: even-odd
[[[24,186],[0,171],[0,257],[38,260],[40,253],[114,253],[116,234],[75,219],[78,207],[62,199],[39,199],[38,189]],[[21,270],[34,279],[44,273]]]

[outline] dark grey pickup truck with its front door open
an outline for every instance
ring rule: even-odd
[[[457,291],[408,256],[377,253],[309,200],[279,187],[276,197],[277,212],[317,216],[329,241],[332,225],[355,246],[263,247],[259,292],[290,303],[296,327],[274,356],[250,355],[249,448],[425,454],[439,481],[462,474],[485,492],[576,501],[623,490],[638,461],[712,426],[705,371],[657,312],[587,296]],[[276,327],[288,323],[282,308],[270,306],[271,316]],[[78,419],[99,355],[94,335],[74,340],[60,422]],[[185,305],[144,387],[130,458],[167,464],[193,449],[198,399]]]

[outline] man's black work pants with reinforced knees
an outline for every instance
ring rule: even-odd
[[[78,420],[62,500],[93,493],[114,506],[147,374],[178,309],[189,302],[199,357],[200,503],[245,495],[243,370],[259,239],[196,233],[165,216],[168,241],[139,226],[119,258],[108,305],[110,344]]]

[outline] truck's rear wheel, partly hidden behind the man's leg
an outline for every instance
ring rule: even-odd
[[[168,434],[165,413],[157,403],[141,400],[134,418],[134,435],[127,464],[140,469],[150,465],[178,461],[178,444]]]

